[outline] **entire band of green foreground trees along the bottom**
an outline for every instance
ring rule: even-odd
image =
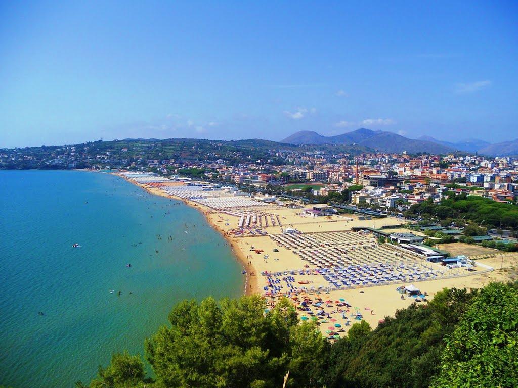
[[[113,356],[91,388],[434,388],[518,386],[518,283],[444,289],[428,304],[355,323],[334,345],[299,324],[282,300],[264,314],[259,296],[185,301],[146,341],[155,380],[138,356]],[[82,386],[78,383],[78,386]]]

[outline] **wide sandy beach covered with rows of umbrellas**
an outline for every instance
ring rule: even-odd
[[[164,190],[164,187],[185,187],[183,183],[167,182],[154,187],[137,183],[124,175],[117,175],[153,195],[181,200],[202,212],[207,222],[224,236],[246,270],[244,292],[265,295],[268,306],[275,306],[281,296],[290,297],[297,306],[299,317],[318,322],[323,334],[341,336],[347,333],[352,323],[361,319],[374,329],[380,320],[393,317],[398,309],[406,308],[416,301],[426,303],[426,300],[433,298],[435,293],[445,287],[480,288],[491,281],[509,280],[516,272],[516,253],[451,244],[455,255],[477,255],[473,259],[476,258],[478,264],[467,272],[466,268],[447,269],[436,263],[428,263],[422,257],[402,248],[379,244],[371,234],[351,231],[353,227],[376,229],[401,225],[401,221],[395,218],[367,219],[368,217],[351,214],[311,217],[304,212],[304,208],[282,207],[277,204],[254,207],[253,210],[249,207],[213,208],[198,200],[181,198]],[[262,217],[263,223],[261,225],[261,221],[256,221],[253,228],[240,228],[244,217],[242,214],[252,214],[251,217],[256,214],[257,217]],[[247,221],[252,223],[252,218],[248,219],[247,216]],[[299,247],[283,245],[287,238],[284,234],[286,228],[296,229],[297,237],[291,238],[295,238],[294,244],[300,244]],[[408,232],[402,227],[394,230]],[[447,244],[441,248],[448,250],[449,247]],[[378,264],[374,263],[397,266],[396,272],[399,272],[401,280],[391,279],[390,284],[386,285],[383,284],[383,279],[378,284],[366,284],[368,281],[364,281],[347,289],[332,289],[319,268],[332,266],[330,263],[334,263],[337,252],[347,255],[348,265],[357,268],[366,266],[367,271],[371,272],[376,271]],[[328,261],[319,262],[321,257]],[[305,271],[308,273],[304,273]],[[374,274],[361,276],[368,275]],[[410,284],[421,290],[421,297],[402,297],[396,290]],[[302,306],[302,302],[307,307]]]

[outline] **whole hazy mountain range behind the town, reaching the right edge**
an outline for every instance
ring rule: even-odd
[[[427,152],[431,154],[444,154],[450,152],[478,152],[482,155],[512,156],[518,155],[518,139],[502,143],[491,144],[479,139],[468,139],[459,142],[448,142],[434,139],[430,136],[422,136],[418,139],[409,139],[393,132],[373,131],[367,128],[359,128],[351,132],[336,136],[322,136],[314,131],[299,131],[281,140],[289,144],[355,144],[373,148],[380,152]]]

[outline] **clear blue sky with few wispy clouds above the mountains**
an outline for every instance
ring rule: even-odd
[[[0,1],[0,147],[518,138],[517,2],[363,3]]]

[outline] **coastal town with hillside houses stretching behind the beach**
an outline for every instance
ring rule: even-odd
[[[99,141],[0,149],[0,169],[123,169],[183,176],[249,193],[306,202],[329,199],[399,216],[413,204],[438,202],[451,191],[502,203],[515,203],[518,196],[518,157],[341,148],[261,140]],[[350,195],[342,200],[344,190]]]

